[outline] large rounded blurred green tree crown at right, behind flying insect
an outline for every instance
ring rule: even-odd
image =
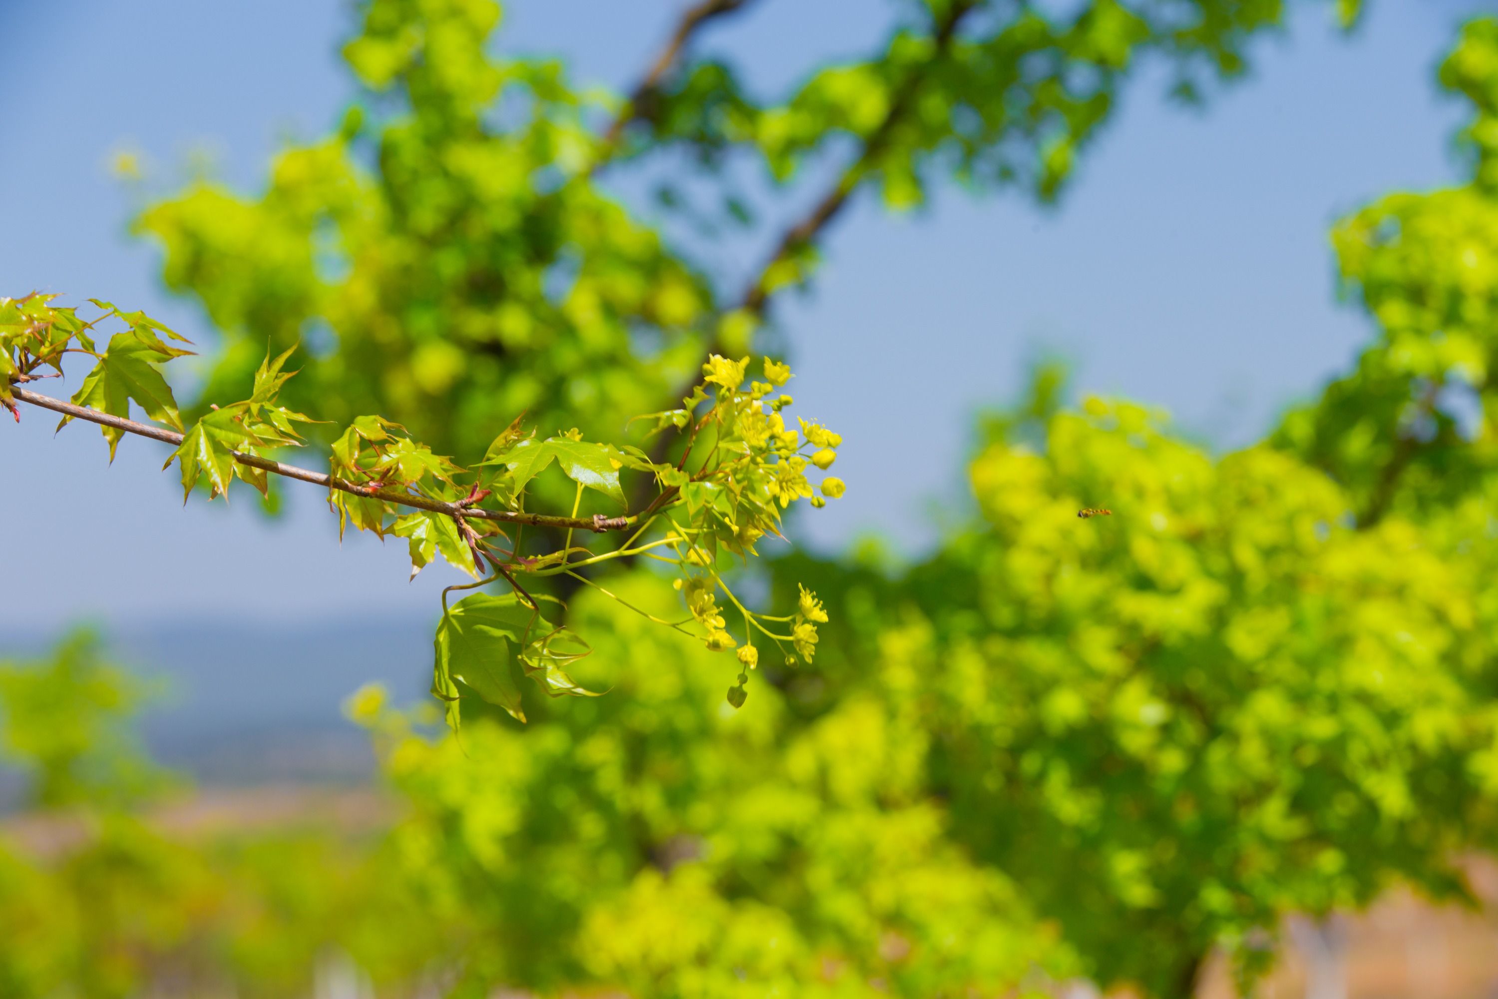
[[[1263,971],[1285,912],[1464,897],[1498,789],[1480,524],[1356,530],[1317,469],[1125,403],[1038,422],[972,464],[984,526],[888,595],[954,836],[1155,996],[1213,947]]]

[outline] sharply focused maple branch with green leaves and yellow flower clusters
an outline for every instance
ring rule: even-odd
[[[7,365],[7,398],[15,406],[12,385],[39,377],[61,376],[63,358],[82,353],[94,367],[73,395],[63,422],[90,415],[129,419],[130,403],[147,416],[177,431],[180,443],[166,464],[181,469],[184,499],[205,482],[210,499],[228,494],[235,478],[244,479],[261,494],[268,491],[270,473],[300,478],[319,476],[288,469],[267,455],[301,446],[298,425],[312,421],[280,404],[280,392],[292,373],[285,370],[291,349],[267,356],[255,371],[247,400],[211,406],[190,427],[178,415],[171,386],[160,365],[187,353],[168,346],[183,341],[171,330],[139,315],[121,313],[108,303],[96,303],[103,315],[82,322],[76,310],[54,307],[48,297],[0,300],[0,334]],[[118,319],[127,330],[111,337],[103,350],[93,338],[96,327]],[[538,440],[517,418],[494,437],[473,469],[464,469],[415,440],[404,427],[382,416],[358,416],[330,446],[330,506],[339,515],[340,532],[348,526],[379,536],[404,538],[410,551],[412,575],[439,553],[446,562],[478,580],[470,586],[443,592],[443,617],[437,628],[433,693],[448,704],[449,722],[460,717],[458,701],[473,693],[497,704],[524,720],[517,671],[533,678],[551,696],[587,695],[572,681],[565,666],[587,655],[587,646],[568,628],[550,623],[541,601],[553,596],[532,595],[521,578],[545,580],[566,575],[598,586],[583,572],[619,559],[649,559],[680,574],[692,617],[659,623],[692,634],[700,623],[703,640],[713,652],[736,649],[739,641],[716,611],[716,595],[728,596],[743,617],[739,659],[746,668],[758,661],[755,634],[779,644],[786,661],[810,661],[815,653],[815,622],[825,622],[819,610],[803,610],[789,617],[767,617],[750,611],[728,589],[719,571],[733,559],[746,562],[756,556],[755,542],[765,535],[780,535],[782,511],[798,499],[813,505],[825,496],[843,493],[843,482],[827,476],[822,496],[806,478],[809,467],[825,470],[836,460],[842,439],[827,428],[801,422],[801,431],[785,427],[782,410],[791,397],[777,389],[791,377],[789,367],[764,359],[764,382],[745,386],[749,358],[730,361],[713,355],[703,365],[704,385],[694,388],[682,406],[650,413],[656,433],[674,428],[685,439],[680,458],[653,461],[632,445],[614,446],[587,442],[578,430]],[[51,374],[48,374],[48,371]],[[76,407],[82,407],[82,412]],[[19,412],[16,412],[19,419]],[[100,424],[109,440],[111,458],[124,428],[120,422]],[[804,437],[803,437],[804,433]],[[538,515],[526,511],[527,491],[539,475],[556,464],[574,482],[571,517]],[[610,518],[593,514],[580,518],[584,491],[592,490],[614,503],[626,503],[620,472],[649,476],[658,487],[655,499],[635,515]],[[509,527],[506,530],[505,527]],[[527,526],[565,529],[563,544],[554,550],[532,551],[524,545]],[[628,539],[614,548],[598,550],[574,544],[577,532],[626,530]],[[535,536],[536,532],[533,532]],[[545,541],[545,536],[542,536]],[[578,539],[581,542],[581,539]],[[484,571],[491,575],[484,577]],[[464,590],[503,581],[511,593],[476,593],[446,604],[449,590]],[[643,611],[641,611],[643,613]],[[786,632],[767,625],[792,622]],[[748,674],[730,692],[734,705],[745,701]]]

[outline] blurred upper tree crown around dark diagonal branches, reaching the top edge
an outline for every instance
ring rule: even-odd
[[[1050,198],[1143,57],[1162,52],[1195,91],[1242,70],[1252,34],[1284,16],[1278,0],[1089,0],[1067,13],[902,0],[870,58],[810,66],[783,102],[758,103],[689,45],[622,102],[580,90],[556,61],[493,54],[491,0],[358,12],[343,55],[363,91],[334,133],[283,150],[258,196],[207,180],[138,228],[165,247],[166,283],[225,335],[205,397],[246,397],[267,344],[304,340],[315,356],[288,406],[336,424],[382,413],[460,464],[521,410],[545,430],[613,436],[670,404],[710,344],[742,355],[765,297],[809,277],[821,228],[857,190],[878,186],[900,208],[957,177]],[[680,147],[710,168],[758,159],[803,198],[819,183],[803,163],[846,163],[740,295],[740,277],[607,186],[664,165],[667,201],[691,211]],[[758,217],[710,174],[725,208],[709,214]]]

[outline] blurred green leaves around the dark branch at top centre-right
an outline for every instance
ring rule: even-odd
[[[710,166],[746,150],[785,183],[852,139],[863,156],[843,184],[876,184],[893,210],[923,204],[947,175],[975,187],[1019,183],[1049,201],[1138,58],[1170,57],[1176,93],[1195,97],[1209,72],[1242,72],[1246,40],[1282,10],[929,0],[900,15],[881,51],[819,67],[783,103],[756,100],[730,63],[683,67],[650,94],[631,150],[685,145]],[[771,286],[806,277],[794,258],[780,264]]]

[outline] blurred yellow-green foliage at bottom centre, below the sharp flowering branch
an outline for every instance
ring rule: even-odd
[[[646,577],[622,590],[676,602]],[[610,693],[580,710],[433,744],[355,701],[412,804],[395,854],[472,927],[458,992],[998,995],[1071,968],[945,836],[911,713],[863,696],[801,725],[773,689],[734,711],[710,653],[596,593],[572,613],[608,635],[589,678]]]

